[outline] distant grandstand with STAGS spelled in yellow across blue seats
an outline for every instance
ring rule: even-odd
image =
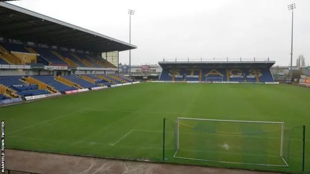
[[[199,59],[163,60],[161,81],[196,82],[274,82],[270,68],[275,61],[267,59]]]

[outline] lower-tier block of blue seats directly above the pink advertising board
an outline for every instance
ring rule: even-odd
[[[45,83],[45,84],[47,84],[47,85],[49,85],[49,86],[51,86],[51,87],[54,87],[59,92],[78,89],[77,87],[70,87],[70,86],[67,86],[67,85],[55,80],[54,76],[52,76],[52,75],[35,75],[32,77],[43,82],[43,83]]]

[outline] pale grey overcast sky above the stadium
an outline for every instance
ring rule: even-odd
[[[163,58],[265,58],[293,65],[299,54],[310,63],[310,0],[21,0],[11,3],[129,43],[132,64]],[[129,62],[129,52],[120,53]]]

